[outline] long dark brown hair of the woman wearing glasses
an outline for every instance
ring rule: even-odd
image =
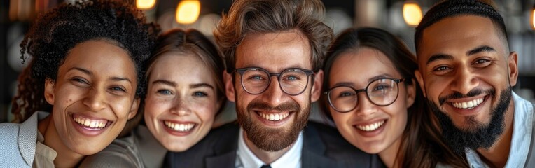
[[[403,130],[394,167],[436,167],[438,163],[452,167],[468,167],[464,158],[455,155],[442,141],[438,120],[428,111],[419,84],[413,82],[416,81],[414,71],[418,68],[415,55],[403,41],[389,32],[377,28],[350,28],[340,33],[327,52],[323,90],[330,88],[329,73],[338,56],[360,48],[373,48],[384,53],[402,78],[408,79],[405,84],[415,85],[415,102],[407,109],[408,125]],[[321,96],[321,109],[329,120],[333,120],[328,112],[327,98],[325,94]]]

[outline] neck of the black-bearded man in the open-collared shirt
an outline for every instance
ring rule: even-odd
[[[490,148],[478,148],[478,153],[491,167],[505,167],[509,158],[511,139],[513,139],[513,116],[515,114],[515,105],[513,99],[509,104],[505,116],[505,128],[503,133],[498,137],[494,145]]]

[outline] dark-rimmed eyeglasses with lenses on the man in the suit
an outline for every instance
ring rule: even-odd
[[[291,96],[296,96],[305,91],[308,85],[308,76],[314,75],[314,71],[309,69],[289,68],[281,73],[270,73],[258,68],[248,67],[236,69],[235,72],[242,76],[240,80],[245,92],[249,94],[260,94],[270,86],[271,76],[277,76],[281,90]]]

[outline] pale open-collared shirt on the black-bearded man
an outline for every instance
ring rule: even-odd
[[[531,134],[533,134],[533,104],[522,99],[513,92],[515,112],[513,113],[513,138],[509,149],[509,157],[505,167],[524,167],[529,153]],[[466,148],[466,160],[470,167],[489,167],[483,162],[476,151]]]

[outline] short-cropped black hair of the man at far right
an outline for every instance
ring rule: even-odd
[[[489,18],[494,23],[494,26],[499,30],[503,36],[503,41],[507,45],[507,31],[506,25],[500,13],[494,9],[489,3],[478,0],[450,0],[442,1],[433,6],[422,18],[422,21],[416,27],[415,46],[418,52],[419,44],[422,41],[422,34],[424,29],[430,27],[436,22],[444,18],[452,18],[460,15],[475,15]],[[506,46],[508,47],[508,46]]]

